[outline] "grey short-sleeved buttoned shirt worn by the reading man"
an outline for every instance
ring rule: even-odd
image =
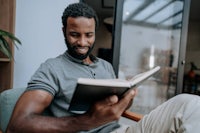
[[[115,78],[110,63],[97,57],[92,57],[92,59],[92,64],[84,64],[67,52],[56,58],[48,59],[31,77],[27,90],[48,91],[54,96],[49,107],[53,115],[56,117],[70,116],[72,114],[67,110],[78,78]]]

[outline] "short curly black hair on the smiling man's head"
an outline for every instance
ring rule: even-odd
[[[62,24],[64,28],[66,28],[67,26],[68,17],[94,18],[95,29],[97,29],[97,27],[99,26],[99,20],[94,9],[82,2],[70,4],[69,6],[65,8],[62,15]]]

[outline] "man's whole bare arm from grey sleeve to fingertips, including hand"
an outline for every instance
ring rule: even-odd
[[[27,91],[16,104],[7,133],[67,133],[90,130],[118,120],[133,97],[134,91],[127,93],[120,101],[117,96],[111,96],[94,104],[83,115],[56,118],[42,115],[53,100],[51,94],[43,90]]]

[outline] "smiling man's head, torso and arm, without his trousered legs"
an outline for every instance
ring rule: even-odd
[[[11,118],[8,132],[109,132],[119,127],[116,120],[134,97],[108,97],[83,115],[72,115],[68,107],[77,78],[115,78],[112,66],[91,54],[98,19],[85,4],[69,5],[62,16],[68,51],[43,63],[28,83]],[[48,108],[55,117],[42,116]]]

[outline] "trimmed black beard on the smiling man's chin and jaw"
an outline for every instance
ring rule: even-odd
[[[79,60],[84,60],[86,59],[92,52],[92,49],[94,48],[94,43],[92,44],[92,46],[88,46],[88,51],[86,54],[80,54],[80,53],[77,53],[76,52],[76,48],[79,47],[79,46],[73,46],[69,43],[69,41],[65,38],[65,44],[68,48],[68,53],[76,58],[76,59],[79,59]]]

